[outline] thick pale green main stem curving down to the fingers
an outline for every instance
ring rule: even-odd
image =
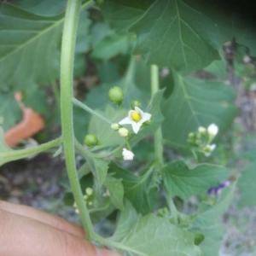
[[[79,208],[84,229],[86,230],[87,239],[90,241],[94,235],[94,230],[90,221],[89,211],[84,203],[76,169],[73,135],[73,104],[71,101],[73,98],[74,49],[81,2],[81,0],[67,1],[61,44],[61,129],[69,182],[73,190],[74,199]],[[91,4],[93,4],[92,0],[85,3],[87,8],[90,7]]]

